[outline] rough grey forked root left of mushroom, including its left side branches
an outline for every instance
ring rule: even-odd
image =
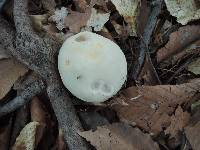
[[[27,4],[28,0],[14,1],[13,13],[16,32],[0,17],[2,31],[0,44],[45,81],[48,96],[69,149],[87,149],[85,141],[77,134],[82,127],[58,75],[55,61],[60,45],[49,37],[41,38],[34,32],[28,17]],[[38,84],[30,85],[24,90],[24,93],[22,92],[20,96],[2,106],[0,114],[4,115],[15,110],[38,94],[33,92],[36,85]],[[41,92],[40,88],[38,89]]]

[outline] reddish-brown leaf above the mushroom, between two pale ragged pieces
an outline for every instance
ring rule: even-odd
[[[78,33],[80,32],[81,27],[86,26],[90,15],[90,8],[88,8],[85,13],[71,11],[70,14],[65,17],[65,26],[69,27],[71,32]]]

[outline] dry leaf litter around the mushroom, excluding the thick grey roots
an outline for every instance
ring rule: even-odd
[[[162,4],[166,9],[163,7],[157,16],[151,35],[155,43],[146,45],[150,54],[145,54],[138,79],[133,81],[133,73],[129,72],[123,89],[103,105],[74,104],[76,110],[81,111],[79,117],[87,130],[77,132],[98,150],[157,150],[163,148],[161,145],[175,149],[184,144],[181,141],[184,136],[194,150],[199,149],[199,119],[193,118],[193,107],[199,100],[200,90],[200,5],[195,0],[165,0]],[[145,35],[153,4],[146,0],[73,0],[66,3],[41,0],[31,5],[34,5],[31,12],[35,12],[29,16],[38,33],[62,43],[81,31],[95,32],[116,42],[126,57],[131,58],[128,63],[132,67],[140,50],[138,41],[146,38],[141,35]],[[7,102],[19,94],[18,89],[14,95],[9,91],[27,72],[28,69],[0,45],[0,99]],[[27,116],[30,120],[21,127],[15,144],[8,145],[6,136],[0,139],[1,147],[48,149],[53,145],[57,149],[67,149],[64,133],[57,125],[48,98],[45,93],[41,94],[29,104]],[[12,117],[9,119],[7,128],[0,125],[0,131],[5,130],[0,132],[0,137],[12,134],[11,123],[17,122]],[[170,142],[177,144],[173,146]]]

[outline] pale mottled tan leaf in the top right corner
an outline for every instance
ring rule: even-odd
[[[165,0],[167,9],[177,21],[183,25],[188,22],[200,19],[200,7],[195,0]]]

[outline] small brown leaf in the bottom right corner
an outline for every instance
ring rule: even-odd
[[[193,150],[199,150],[200,149],[200,122],[196,123],[194,126],[187,126],[185,128],[185,134],[190,142]]]

